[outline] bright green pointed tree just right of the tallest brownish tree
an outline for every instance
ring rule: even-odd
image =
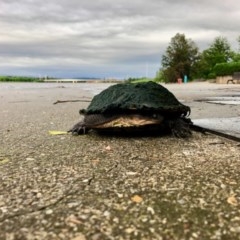
[[[230,62],[234,57],[231,46],[225,37],[216,37],[210,47],[204,50],[197,63],[198,74],[204,78],[215,77],[213,68],[218,63]]]

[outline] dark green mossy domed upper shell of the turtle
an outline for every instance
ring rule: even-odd
[[[161,113],[173,116],[186,116],[188,106],[162,85],[155,82],[120,83],[103,90],[94,96],[87,109],[80,114],[126,114],[126,113]]]

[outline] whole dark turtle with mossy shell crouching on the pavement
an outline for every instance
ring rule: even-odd
[[[191,135],[190,112],[190,107],[159,83],[118,83],[95,95],[87,109],[79,111],[83,120],[68,132],[80,135],[89,130],[140,131],[185,138]]]

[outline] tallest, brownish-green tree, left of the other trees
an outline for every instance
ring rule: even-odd
[[[177,33],[162,56],[162,71],[166,82],[176,82],[184,75],[191,78],[191,69],[199,56],[198,47],[184,34]]]

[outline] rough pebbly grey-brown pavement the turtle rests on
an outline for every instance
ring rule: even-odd
[[[107,86],[0,85],[0,239],[240,239],[239,142],[49,133]],[[192,119],[240,116],[237,104],[202,101],[239,85],[164,86]]]

